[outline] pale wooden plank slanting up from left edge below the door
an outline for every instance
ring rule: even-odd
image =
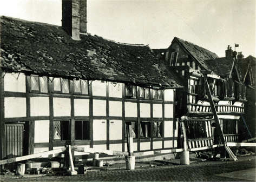
[[[61,149],[51,150],[51,151],[47,151],[47,152],[40,152],[40,153],[35,153],[35,154],[30,154],[28,156],[22,156],[22,157],[15,157],[15,158],[11,158],[11,159],[0,160],[0,165],[9,164],[9,163],[15,163],[17,161],[22,161],[22,160],[34,159],[34,158],[42,157],[44,155],[61,153],[61,152],[64,152],[65,150],[66,150],[66,147],[63,147]]]

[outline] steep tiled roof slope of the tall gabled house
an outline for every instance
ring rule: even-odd
[[[184,41],[183,39],[178,37],[174,37],[173,41],[175,40],[178,41],[183,46],[183,48],[185,48],[203,68],[205,68],[206,70],[211,70],[211,68],[208,68],[208,66],[205,64],[204,60],[218,58],[218,56],[214,52],[211,52],[191,42]]]

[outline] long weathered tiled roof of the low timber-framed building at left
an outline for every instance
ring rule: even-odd
[[[181,87],[148,46],[122,44],[99,36],[74,41],[61,26],[1,17],[1,68],[38,75],[100,79]]]

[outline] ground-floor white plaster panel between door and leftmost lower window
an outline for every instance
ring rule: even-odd
[[[49,143],[49,120],[35,120],[35,143]]]

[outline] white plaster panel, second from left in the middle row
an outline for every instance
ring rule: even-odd
[[[31,116],[49,116],[49,97],[30,98]]]

